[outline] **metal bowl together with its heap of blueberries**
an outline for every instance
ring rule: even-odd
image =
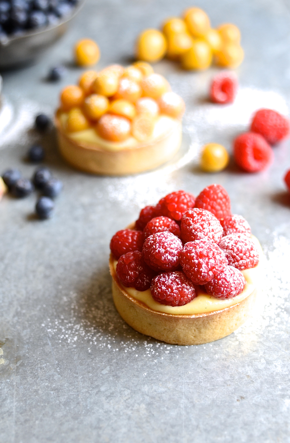
[[[33,62],[68,29],[84,0],[0,0],[1,69]]]

